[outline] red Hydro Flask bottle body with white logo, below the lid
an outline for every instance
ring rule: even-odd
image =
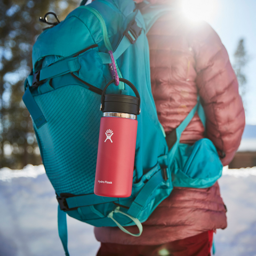
[[[95,195],[131,196],[137,126],[137,119],[101,117]]]

